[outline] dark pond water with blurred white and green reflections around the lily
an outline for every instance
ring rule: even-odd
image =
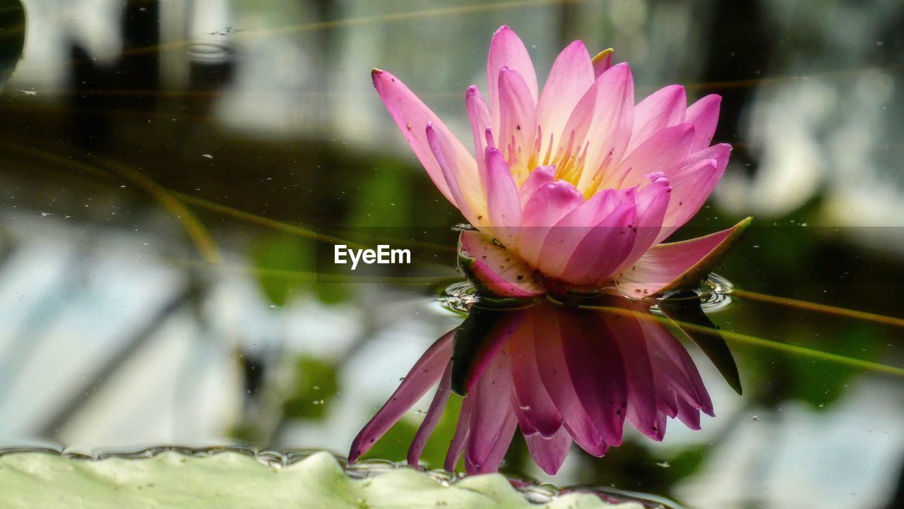
[[[899,506],[898,0],[0,0],[0,448],[344,454],[462,320],[437,296],[463,219],[369,71],[469,139],[501,24],[541,80],[582,39],[631,63],[638,99],[719,93],[735,150],[679,235],[757,218],[720,269],[744,291],[711,316],[737,333],[744,396],[692,347],[718,416],[702,431],[575,449],[554,477],[516,438],[504,471],[692,508]],[[377,238],[414,263],[330,263],[337,239]],[[403,459],[421,418],[369,456]]]

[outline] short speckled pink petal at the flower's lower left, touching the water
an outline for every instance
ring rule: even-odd
[[[534,269],[480,231],[458,236],[458,267],[485,297],[534,297],[544,292]]]

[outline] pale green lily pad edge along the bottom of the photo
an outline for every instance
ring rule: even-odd
[[[255,457],[165,452],[155,457],[77,460],[28,452],[0,457],[0,506],[5,509],[590,509],[614,507],[598,496],[570,493],[547,504],[527,501],[499,474],[451,485],[411,468],[366,478],[348,476],[325,452],[273,467]],[[640,504],[619,504],[642,509]]]

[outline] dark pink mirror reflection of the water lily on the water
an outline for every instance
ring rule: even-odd
[[[692,302],[699,312],[699,299]],[[364,426],[349,460],[361,457],[437,382],[410,446],[411,465],[450,392],[465,397],[447,470],[462,456],[468,473],[496,470],[516,428],[549,474],[559,470],[572,441],[597,457],[620,445],[625,421],[654,440],[663,439],[668,419],[700,429],[701,412],[713,415],[709,393],[683,344],[649,306],[621,297],[599,297],[592,306],[546,299],[516,309],[473,306],[465,323],[428,348]],[[681,315],[684,307],[670,309]],[[709,350],[711,355],[718,348],[710,344]],[[733,369],[730,353],[728,359]]]

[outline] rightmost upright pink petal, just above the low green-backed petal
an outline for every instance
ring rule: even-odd
[[[689,163],[669,176],[672,198],[657,242],[667,239],[700,211],[725,174],[730,152],[731,146],[724,143],[705,148],[690,156],[692,160],[697,159],[696,163]]]

